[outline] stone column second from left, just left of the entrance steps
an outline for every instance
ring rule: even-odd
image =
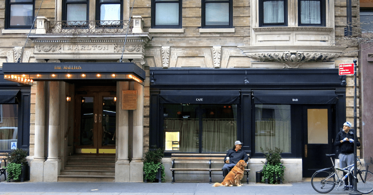
[[[44,181],[55,182],[60,171],[59,139],[60,125],[60,82],[49,83],[49,135],[48,159],[44,163]]]

